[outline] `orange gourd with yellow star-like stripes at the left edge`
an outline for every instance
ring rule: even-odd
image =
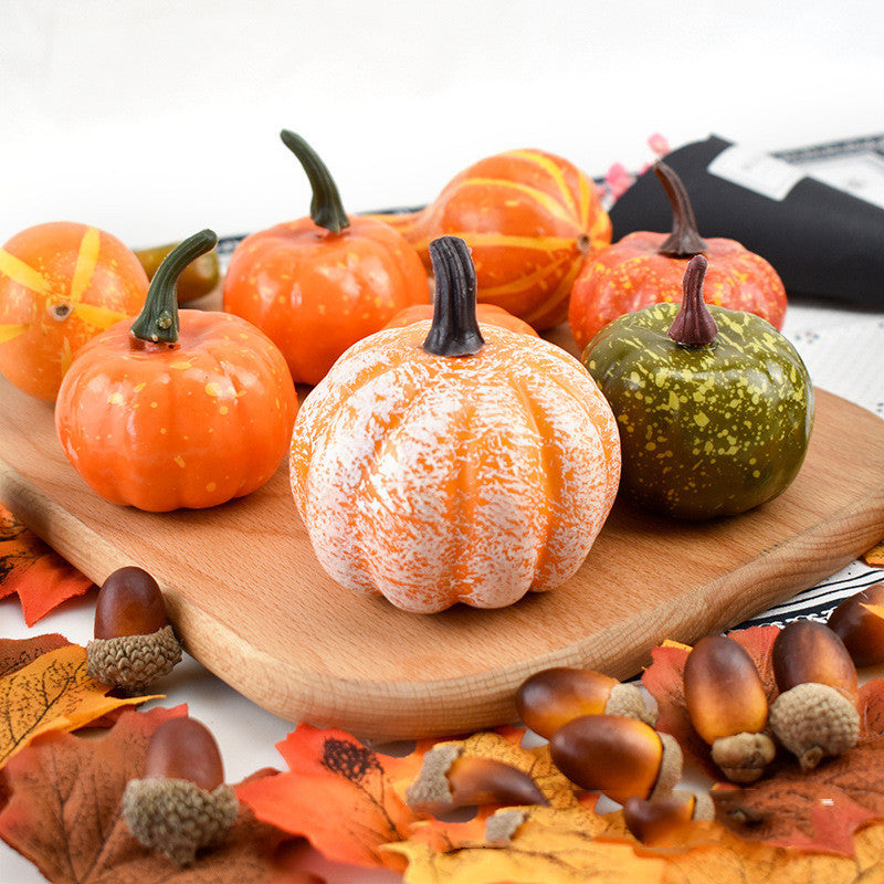
[[[0,371],[53,401],[77,350],[146,295],[138,259],[103,230],[62,221],[17,233],[0,249]]]

